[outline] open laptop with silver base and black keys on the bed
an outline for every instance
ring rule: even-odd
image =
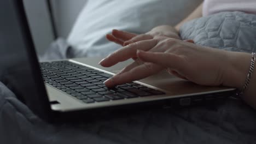
[[[101,57],[38,62],[22,1],[1,1],[0,20],[0,81],[46,121],[56,113],[168,105],[170,101],[194,105],[223,99],[235,90],[199,86],[165,71],[109,89],[103,81],[132,60],[111,68],[98,65]]]

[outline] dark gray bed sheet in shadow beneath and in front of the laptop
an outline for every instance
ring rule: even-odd
[[[256,143],[256,112],[222,105],[137,111],[97,122],[48,124],[0,83],[1,143]]]

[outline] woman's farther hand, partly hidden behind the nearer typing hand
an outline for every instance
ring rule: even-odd
[[[113,29],[112,34],[107,34],[106,38],[121,46],[126,46],[131,43],[136,43],[137,41],[153,39],[155,36],[166,36],[169,38],[180,39],[178,31],[171,26],[158,26],[146,34],[135,34]]]

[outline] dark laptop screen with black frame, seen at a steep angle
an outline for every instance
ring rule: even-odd
[[[0,81],[48,119],[50,104],[21,0],[0,1]]]

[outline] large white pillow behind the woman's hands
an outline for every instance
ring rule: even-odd
[[[89,0],[67,39],[74,57],[106,56],[121,46],[105,35],[112,29],[146,33],[155,26],[176,25],[202,0]]]

